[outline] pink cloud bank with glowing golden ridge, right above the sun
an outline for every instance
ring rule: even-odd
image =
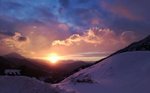
[[[79,52],[112,52],[123,48],[137,39],[133,31],[116,34],[110,29],[92,28],[82,35],[73,34],[65,40],[52,42],[53,49]]]

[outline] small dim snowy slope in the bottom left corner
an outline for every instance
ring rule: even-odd
[[[33,78],[0,77],[0,93],[57,93],[50,85]]]

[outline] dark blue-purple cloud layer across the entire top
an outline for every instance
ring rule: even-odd
[[[99,26],[118,32],[132,30],[147,34],[150,30],[149,3],[149,0],[1,0],[0,31],[13,33],[18,30],[18,24],[53,27],[66,23],[74,28]]]

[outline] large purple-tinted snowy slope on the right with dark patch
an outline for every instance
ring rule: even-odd
[[[150,93],[150,52],[114,55],[55,86],[73,93]]]

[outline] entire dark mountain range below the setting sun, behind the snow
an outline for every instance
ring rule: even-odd
[[[69,60],[61,61],[54,66],[49,61],[29,59],[17,53],[11,53],[0,56],[0,75],[8,75],[6,72],[10,70],[19,70],[21,76],[35,77],[48,83],[57,83],[70,76],[75,69],[86,64],[89,63]],[[11,76],[15,73],[11,73]]]

